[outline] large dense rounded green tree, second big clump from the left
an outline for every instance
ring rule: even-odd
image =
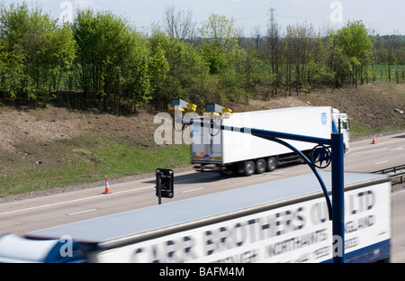
[[[79,11],[73,33],[78,46],[76,77],[87,108],[99,98],[104,110],[111,106],[118,115],[122,99],[127,99],[133,110],[148,103],[151,96],[146,41],[124,18],[111,12]],[[140,80],[134,80],[132,75]],[[135,85],[137,88],[130,87]]]

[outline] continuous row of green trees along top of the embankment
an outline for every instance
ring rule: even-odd
[[[404,80],[404,37],[370,36],[361,21],[325,36],[307,23],[288,25],[283,35],[274,25],[265,38],[249,39],[233,19],[210,14],[198,32],[199,39],[181,40],[155,28],[149,36],[92,9],[58,26],[38,6],[2,5],[0,97],[34,106],[58,98],[68,108],[121,114],[150,103],[165,110],[173,98],[201,108],[247,103],[256,89],[270,99],[371,78]]]

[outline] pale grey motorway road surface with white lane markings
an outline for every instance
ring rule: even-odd
[[[376,144],[371,144],[371,139],[352,142],[351,150],[345,156],[345,170],[368,173],[405,164],[405,132],[377,136],[376,141]],[[190,170],[175,174],[175,198],[164,198],[162,204],[307,173],[311,173],[307,165],[277,168],[274,172],[252,177],[223,177]],[[0,235],[23,234],[157,204],[154,175],[110,184],[110,195],[103,195],[104,187],[0,204]],[[405,192],[392,195],[392,262],[405,262],[404,203]]]

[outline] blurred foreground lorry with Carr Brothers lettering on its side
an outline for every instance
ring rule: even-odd
[[[330,173],[320,176],[330,190]],[[4,235],[0,261],[331,262],[332,222],[320,189],[315,175],[309,174],[34,231],[22,238]],[[345,202],[345,261],[389,261],[390,178],[346,173]]]

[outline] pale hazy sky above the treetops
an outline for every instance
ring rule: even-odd
[[[152,24],[163,25],[165,7],[191,10],[197,25],[210,14],[225,15],[235,21],[245,36],[259,28],[266,34],[271,8],[282,32],[289,24],[312,23],[315,30],[338,29],[348,21],[361,20],[374,34],[405,35],[405,1],[403,0],[0,0],[9,5],[40,5],[54,18],[72,18],[76,9],[93,8],[112,11],[126,17],[139,32],[148,32]]]

